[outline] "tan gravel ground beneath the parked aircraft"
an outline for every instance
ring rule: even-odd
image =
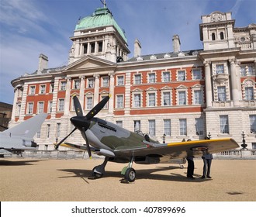
[[[255,202],[256,160],[213,160],[212,179],[201,179],[202,160],[195,160],[195,180],[178,164],[133,164],[137,180],[121,183],[126,164],[108,163],[101,179],[89,180],[103,160],[0,160],[2,202]]]

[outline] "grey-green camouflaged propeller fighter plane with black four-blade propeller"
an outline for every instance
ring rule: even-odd
[[[158,164],[169,163],[173,159],[185,159],[186,157],[199,157],[203,153],[218,153],[224,150],[235,149],[237,143],[232,139],[221,140],[198,140],[180,143],[159,143],[152,140],[147,134],[132,133],[120,126],[95,118],[95,115],[109,101],[109,96],[103,98],[98,105],[87,115],[83,115],[80,102],[76,96],[73,97],[74,108],[77,116],[71,118],[72,124],[80,130],[81,136],[85,139],[84,145],[64,143],[64,140],[71,135],[69,133],[60,143],[55,146],[67,146],[78,150],[87,150],[89,157],[92,152],[105,156],[103,164],[92,170],[92,177],[99,178],[105,173],[108,161],[116,163],[128,163],[121,174],[128,182],[135,181],[136,171],[133,169],[133,162],[137,164]]]

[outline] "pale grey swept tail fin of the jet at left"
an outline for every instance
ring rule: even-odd
[[[2,133],[10,136],[24,136],[27,138],[33,138],[36,132],[40,131],[40,127],[46,118],[46,113],[36,115],[33,118],[27,119],[26,121],[20,123],[17,126],[6,129]]]

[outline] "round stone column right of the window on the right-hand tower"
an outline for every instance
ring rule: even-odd
[[[231,75],[231,92],[234,106],[240,106],[239,104],[239,91],[237,87],[237,73],[235,60],[231,59],[230,62],[230,75]]]

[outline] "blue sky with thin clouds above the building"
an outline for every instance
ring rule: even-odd
[[[256,23],[255,0],[106,0],[119,26],[125,30],[130,57],[133,42],[141,53],[172,51],[178,34],[181,50],[202,49],[201,15],[232,12],[235,27]],[[100,0],[0,0],[0,102],[12,104],[10,82],[37,70],[40,53],[48,67],[67,64],[70,37],[80,17],[102,7]]]

